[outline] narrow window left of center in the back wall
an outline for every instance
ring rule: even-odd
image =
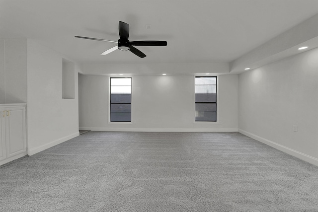
[[[131,77],[110,77],[110,121],[131,122]]]

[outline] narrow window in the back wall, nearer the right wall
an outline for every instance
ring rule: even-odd
[[[195,77],[195,121],[217,121],[217,77]]]

